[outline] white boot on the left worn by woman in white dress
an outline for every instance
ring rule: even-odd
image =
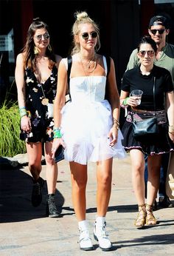
[[[83,251],[90,251],[94,249],[93,244],[91,242],[91,238],[89,238],[88,229],[85,229],[85,230],[80,229],[79,243],[80,243],[80,249]]]

